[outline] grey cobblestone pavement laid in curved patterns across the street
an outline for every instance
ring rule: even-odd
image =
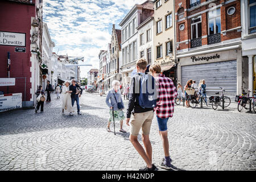
[[[55,97],[52,96],[52,98]],[[85,93],[82,115],[61,115],[61,100],[45,104],[44,113],[0,113],[1,170],[138,170],[141,156],[128,133],[106,131],[105,97]],[[125,105],[127,106],[127,100]],[[185,170],[255,170],[256,114],[176,106],[168,121],[172,164]],[[113,125],[112,125],[113,130]],[[150,134],[153,163],[163,158],[156,119]],[[141,135],[139,135],[141,141]]]

